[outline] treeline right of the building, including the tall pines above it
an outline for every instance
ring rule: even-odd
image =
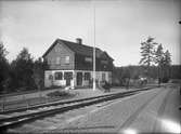
[[[181,66],[171,65],[171,54],[165,51],[161,43],[157,43],[155,38],[148,37],[141,42],[140,65],[114,68],[114,84],[124,85],[130,80],[146,78],[157,80],[158,83],[168,82],[170,79],[181,79]]]

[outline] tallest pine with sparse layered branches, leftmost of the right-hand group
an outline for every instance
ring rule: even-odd
[[[146,76],[148,77],[150,76],[150,67],[152,64],[154,64],[155,62],[155,57],[154,57],[154,54],[155,54],[155,45],[157,43],[154,42],[154,38],[152,37],[148,37],[146,39],[145,42],[141,42],[141,61],[140,61],[140,64],[143,65],[145,67],[145,72],[146,72]]]

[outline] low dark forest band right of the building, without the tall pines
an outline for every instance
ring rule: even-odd
[[[114,85],[125,85],[127,79],[138,80],[141,77],[148,77],[155,82],[158,82],[158,67],[151,66],[148,76],[145,76],[146,69],[144,66],[125,66],[115,67],[113,70],[113,84]],[[164,71],[164,70],[163,70]],[[165,70],[166,71],[166,70]],[[169,71],[163,72],[161,82],[168,82],[169,80],[181,79],[181,65],[171,65]]]

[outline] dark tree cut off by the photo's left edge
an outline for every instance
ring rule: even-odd
[[[7,61],[8,51],[5,50],[2,42],[0,42],[0,92],[7,90],[9,82],[9,63]]]

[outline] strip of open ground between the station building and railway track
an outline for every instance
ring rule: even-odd
[[[130,90],[137,90],[137,89],[130,89]],[[65,90],[55,89],[55,90],[42,91],[41,93],[35,92],[29,94],[0,97],[0,110],[3,111],[9,109],[26,108],[26,107],[42,104],[42,103],[61,102],[61,100],[64,102],[64,100],[87,98],[87,97],[108,94],[108,92],[104,93],[104,91],[101,91],[101,90],[95,90],[92,92],[92,89],[77,89],[77,90],[65,91],[72,94],[69,96],[60,96],[60,97],[48,96],[49,93],[56,92],[56,91],[61,92]],[[109,93],[126,92],[126,91],[127,91],[126,89],[119,88],[119,89],[112,89]]]

